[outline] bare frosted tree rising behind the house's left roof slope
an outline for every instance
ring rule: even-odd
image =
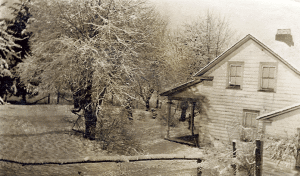
[[[235,35],[228,18],[207,11],[184,26],[182,42],[196,59],[195,65],[199,69],[225,51]]]

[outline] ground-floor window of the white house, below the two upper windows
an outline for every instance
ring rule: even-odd
[[[255,139],[257,132],[258,121],[256,117],[259,115],[259,111],[244,110],[243,111],[243,130],[241,139],[245,142],[250,142]]]

